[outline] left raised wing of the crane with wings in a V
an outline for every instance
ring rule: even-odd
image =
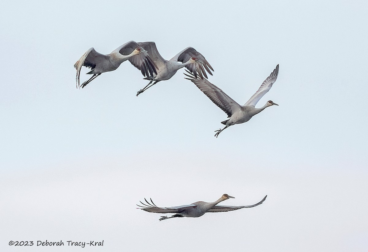
[[[196,78],[195,75],[189,71],[187,71],[187,73],[189,75],[185,73],[184,75],[190,78],[185,79],[190,80],[199,89],[201,89],[201,91],[204,92],[205,95],[208,96],[208,98],[212,100],[213,103],[219,106],[219,108],[222,109],[228,117],[231,117],[231,115],[235,113],[235,111],[241,109],[241,106],[237,102],[226,95],[226,93],[224,93],[221,89],[217,88],[217,86],[213,85],[206,79],[200,79],[198,77]]]

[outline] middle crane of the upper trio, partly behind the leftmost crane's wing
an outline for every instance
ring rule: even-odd
[[[212,75],[210,69],[213,71],[213,68],[208,64],[205,57],[203,57],[203,55],[197,52],[193,47],[187,47],[171,58],[171,60],[165,60],[158,52],[155,42],[138,42],[138,45],[148,51],[149,57],[155,62],[158,68],[157,74],[144,78],[148,79],[150,82],[137,92],[137,96],[140,93],[143,93],[146,89],[151,88],[151,86],[155,85],[157,82],[170,79],[182,67],[188,68],[189,71],[194,73],[195,77],[197,77],[198,74],[202,79],[203,76],[207,78],[204,68],[210,75]]]

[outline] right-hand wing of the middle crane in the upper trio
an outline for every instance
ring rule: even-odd
[[[206,71],[203,69],[203,67],[207,70],[207,72],[210,75],[213,75],[212,72],[210,71],[210,69],[213,71],[213,68],[211,67],[211,65],[208,63],[205,57],[203,57],[203,55],[197,52],[197,50],[195,50],[193,47],[185,48],[183,51],[176,54],[170,61],[174,60],[174,61],[180,61],[181,63],[185,63],[191,57],[197,58],[202,63],[202,64],[193,63],[193,64],[189,64],[185,66],[189,71],[191,71],[194,74],[195,77],[197,77],[197,72],[198,72],[201,79],[203,79],[203,76],[208,78]]]

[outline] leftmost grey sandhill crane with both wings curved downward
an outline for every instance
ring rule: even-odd
[[[92,47],[74,64],[77,69],[77,88],[80,86],[79,75],[83,65],[91,68],[92,70],[87,74],[93,75],[82,84],[82,88],[103,72],[114,71],[125,60],[129,60],[130,63],[141,70],[143,76],[152,77],[153,74],[157,74],[155,63],[149,58],[147,51],[134,41],[129,41],[106,55],[96,52]]]

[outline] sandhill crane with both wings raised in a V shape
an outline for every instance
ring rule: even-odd
[[[216,138],[227,127],[238,124],[238,123],[245,123],[249,121],[252,116],[258,114],[262,110],[264,110],[266,107],[277,105],[278,104],[272,102],[269,100],[266,102],[265,106],[256,109],[254,106],[257,104],[257,102],[262,98],[265,93],[270,90],[272,87],[272,84],[276,81],[277,74],[279,73],[279,65],[276,66],[275,70],[270,74],[270,76],[263,81],[261,87],[258,89],[258,91],[252,95],[252,97],[244,104],[244,106],[241,106],[237,102],[235,102],[233,99],[231,99],[226,93],[224,93],[221,89],[217,88],[217,86],[213,85],[206,79],[200,79],[195,77],[191,72],[187,71],[188,74],[185,74],[186,76],[190,78],[185,78],[190,81],[192,81],[199,89],[201,89],[202,92],[205,93],[206,96],[209,97],[210,100],[212,100],[213,103],[215,103],[217,106],[220,107],[226,114],[227,117],[230,117],[230,119],[227,119],[222,124],[226,125],[223,129],[216,130]]]

